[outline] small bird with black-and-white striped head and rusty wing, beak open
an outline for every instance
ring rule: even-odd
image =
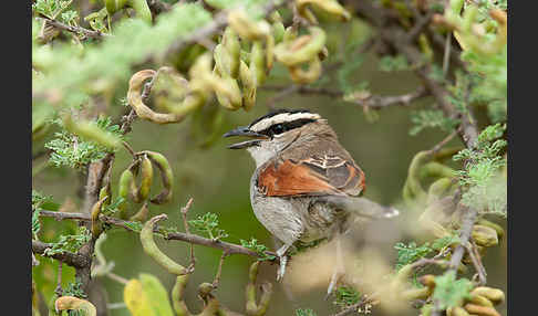
[[[337,239],[337,264],[328,287],[344,273],[340,235],[353,217],[390,219],[392,207],[363,198],[365,175],[340,144],[328,119],[308,109],[277,109],[224,137],[247,137],[229,145],[246,149],[256,162],[250,202],[258,221],[282,245],[277,281],[282,280],[292,246]]]

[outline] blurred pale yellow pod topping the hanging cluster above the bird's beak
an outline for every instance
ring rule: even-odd
[[[228,23],[239,36],[249,41],[262,40],[271,31],[265,20],[252,21],[244,9],[235,9],[228,13]]]

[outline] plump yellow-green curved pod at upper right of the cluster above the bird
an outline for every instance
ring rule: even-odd
[[[275,57],[287,66],[298,65],[311,61],[325,44],[325,32],[318,28],[309,28],[310,35],[302,35],[292,42],[286,42],[275,46]]]

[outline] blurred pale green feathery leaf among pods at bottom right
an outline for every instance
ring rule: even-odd
[[[435,277],[435,289],[432,297],[441,309],[446,309],[462,306],[464,299],[470,297],[470,289],[473,289],[473,283],[467,278],[456,280],[456,273],[451,270]]]

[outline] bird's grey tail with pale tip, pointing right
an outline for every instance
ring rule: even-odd
[[[366,198],[323,196],[319,197],[319,201],[360,217],[373,219],[390,219],[400,214],[395,208],[382,206]]]

